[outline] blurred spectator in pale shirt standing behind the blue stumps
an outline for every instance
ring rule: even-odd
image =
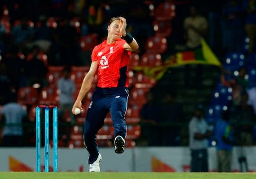
[[[65,67],[62,71],[62,77],[58,80],[58,89],[60,90],[59,113],[60,118],[64,117],[65,111],[69,111],[71,124],[75,124],[75,116],[72,113],[74,103],[73,95],[75,93],[75,83],[69,79],[70,67]]]

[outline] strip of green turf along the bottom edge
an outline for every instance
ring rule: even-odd
[[[0,172],[1,179],[255,179],[256,173]]]

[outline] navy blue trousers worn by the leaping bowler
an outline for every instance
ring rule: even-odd
[[[110,111],[115,129],[115,137],[121,135],[124,139],[127,133],[125,113],[129,92],[125,87],[99,88],[97,87],[88,107],[84,124],[84,142],[89,152],[88,163],[92,164],[98,158],[98,144],[96,134],[104,124],[105,117]]]

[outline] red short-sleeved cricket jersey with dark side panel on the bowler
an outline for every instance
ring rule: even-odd
[[[119,39],[114,44],[107,40],[95,46],[92,62],[98,61],[98,87],[128,87],[128,64],[131,51],[124,49],[125,40]]]

